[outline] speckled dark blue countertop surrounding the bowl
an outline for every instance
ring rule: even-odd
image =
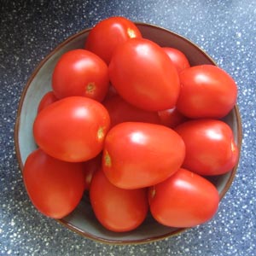
[[[64,39],[112,15],[166,27],[201,46],[236,79],[243,141],[236,179],[207,224],[137,246],[90,241],[32,207],[15,156],[21,92]],[[0,2],[0,255],[256,255],[255,1]]]

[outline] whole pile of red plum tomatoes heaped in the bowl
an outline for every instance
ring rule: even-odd
[[[63,218],[87,190],[98,221],[116,232],[136,229],[148,214],[172,227],[202,224],[219,203],[207,177],[238,161],[222,120],[236,96],[221,68],[190,67],[131,20],[102,20],[84,49],[56,63],[33,124],[27,193],[40,212]]]

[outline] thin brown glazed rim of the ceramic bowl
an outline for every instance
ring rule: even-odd
[[[212,62],[213,65],[218,66],[216,64],[216,62],[212,59],[212,57],[210,55],[207,55],[207,52],[205,50],[201,49],[201,47],[199,45],[190,41],[189,38],[186,38],[183,35],[180,35],[177,32],[173,32],[172,30],[166,29],[165,27],[162,27],[162,26],[157,26],[157,25],[154,25],[154,24],[145,23],[145,22],[141,22],[141,21],[134,21],[134,23],[138,26],[152,27],[154,29],[159,29],[161,31],[172,33],[172,35],[174,37],[177,37],[177,38],[193,45],[196,49],[201,51],[201,54],[205,55],[207,57],[207,59],[209,59]],[[19,105],[18,105],[18,109],[17,109],[17,113],[16,113],[16,120],[15,120],[15,154],[16,154],[16,158],[18,160],[18,164],[19,164],[20,172],[21,172],[22,176],[23,176],[24,164],[21,160],[21,154],[20,154],[19,131],[20,131],[20,113],[21,113],[23,103],[24,103],[24,100],[25,100],[25,97],[26,97],[26,92],[29,89],[30,85],[32,84],[32,80],[38,74],[39,70],[44,66],[44,63],[47,62],[52,55],[55,55],[55,53],[59,49],[61,49],[66,44],[68,44],[70,41],[73,41],[73,39],[78,38],[79,36],[83,35],[86,32],[90,32],[91,29],[92,29],[92,27],[89,27],[89,28],[85,28],[82,31],[76,32],[73,35],[67,37],[64,41],[61,42],[61,44],[58,44],[54,49],[52,49],[49,52],[48,55],[46,55],[44,57],[44,59],[42,61],[40,61],[38,63],[38,66],[32,71],[32,74],[30,75],[29,79],[26,81],[26,85],[25,85],[24,89],[22,90],[22,93],[21,93],[21,96],[20,96],[20,102],[19,102]],[[234,110],[234,113],[235,113],[235,116],[236,116],[237,147],[239,149],[238,150],[239,156],[238,156],[238,161],[237,161],[236,166],[234,166],[234,168],[230,171],[231,175],[230,175],[227,183],[225,184],[224,189],[222,189],[222,191],[219,194],[219,201],[221,201],[224,198],[224,195],[228,192],[228,190],[230,189],[231,184],[233,183],[233,181],[236,177],[236,171],[237,171],[237,167],[239,165],[239,159],[240,159],[240,156],[241,156],[242,126],[241,126],[241,115],[240,115],[237,103],[236,103],[235,107],[233,108],[233,110]],[[143,243],[148,243],[148,242],[152,242],[152,241],[160,241],[160,240],[163,240],[167,237],[177,236],[178,234],[183,233],[183,231],[191,229],[191,228],[179,228],[177,230],[172,230],[172,231],[167,232],[166,234],[160,235],[160,236],[154,236],[154,237],[143,238],[143,239],[128,240],[128,241],[115,241],[115,240],[112,240],[112,239],[106,239],[106,238],[102,238],[102,237],[99,237],[99,236],[94,236],[94,235],[92,235],[88,232],[85,232],[84,230],[80,230],[78,227],[75,227],[73,224],[68,223],[67,220],[65,220],[64,218],[55,219],[55,221],[64,225],[69,230],[73,230],[74,232],[78,233],[79,235],[84,236],[86,238],[89,238],[92,241],[100,241],[102,243],[111,244],[111,245],[125,245],[125,244],[130,244],[131,245],[131,244],[143,244]]]

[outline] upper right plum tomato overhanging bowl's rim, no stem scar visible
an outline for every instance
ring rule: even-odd
[[[179,73],[177,109],[189,118],[222,118],[236,104],[235,81],[220,67],[201,65]]]

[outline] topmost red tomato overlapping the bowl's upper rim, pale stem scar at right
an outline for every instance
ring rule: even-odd
[[[113,51],[129,38],[142,38],[137,26],[124,17],[110,17],[92,28],[84,47],[109,64]]]

